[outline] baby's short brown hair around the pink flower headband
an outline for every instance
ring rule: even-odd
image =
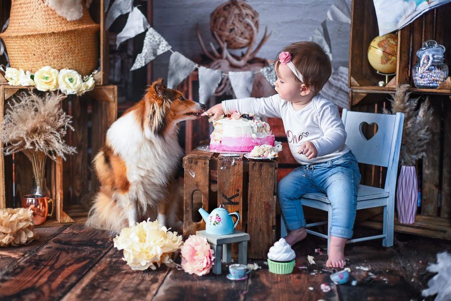
[[[295,42],[282,49],[291,54],[291,61],[302,74],[304,84],[318,94],[332,73],[330,59],[324,50],[315,42]],[[279,54],[276,59],[276,73],[279,76]],[[294,75],[293,75],[294,76]],[[295,77],[297,81],[299,79]]]

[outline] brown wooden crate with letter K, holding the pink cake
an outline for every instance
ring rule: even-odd
[[[248,160],[243,155],[225,157],[218,153],[192,150],[183,158],[183,236],[205,229],[205,222],[193,221],[193,199],[201,195],[208,213],[219,205],[241,216],[236,230],[251,235],[248,256],[264,259],[276,241],[277,160]],[[217,202],[212,194],[210,173],[217,171]],[[214,199],[214,198],[212,198]],[[194,209],[195,210],[195,209]],[[196,210],[195,210],[196,211]]]

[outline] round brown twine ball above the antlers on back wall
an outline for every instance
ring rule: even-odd
[[[210,15],[210,30],[216,33],[229,49],[240,49],[251,44],[252,27],[259,30],[259,13],[243,1],[232,0],[218,6]]]

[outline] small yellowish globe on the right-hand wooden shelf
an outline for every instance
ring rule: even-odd
[[[398,36],[386,34],[375,37],[368,46],[368,61],[380,73],[396,72]]]

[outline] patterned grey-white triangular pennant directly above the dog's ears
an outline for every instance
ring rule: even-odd
[[[165,53],[171,49],[171,46],[167,41],[152,27],[147,30],[146,37],[144,38],[144,46],[142,51],[136,57],[135,63],[131,67],[130,71],[141,68],[147,65],[148,62],[155,59],[162,53]]]

